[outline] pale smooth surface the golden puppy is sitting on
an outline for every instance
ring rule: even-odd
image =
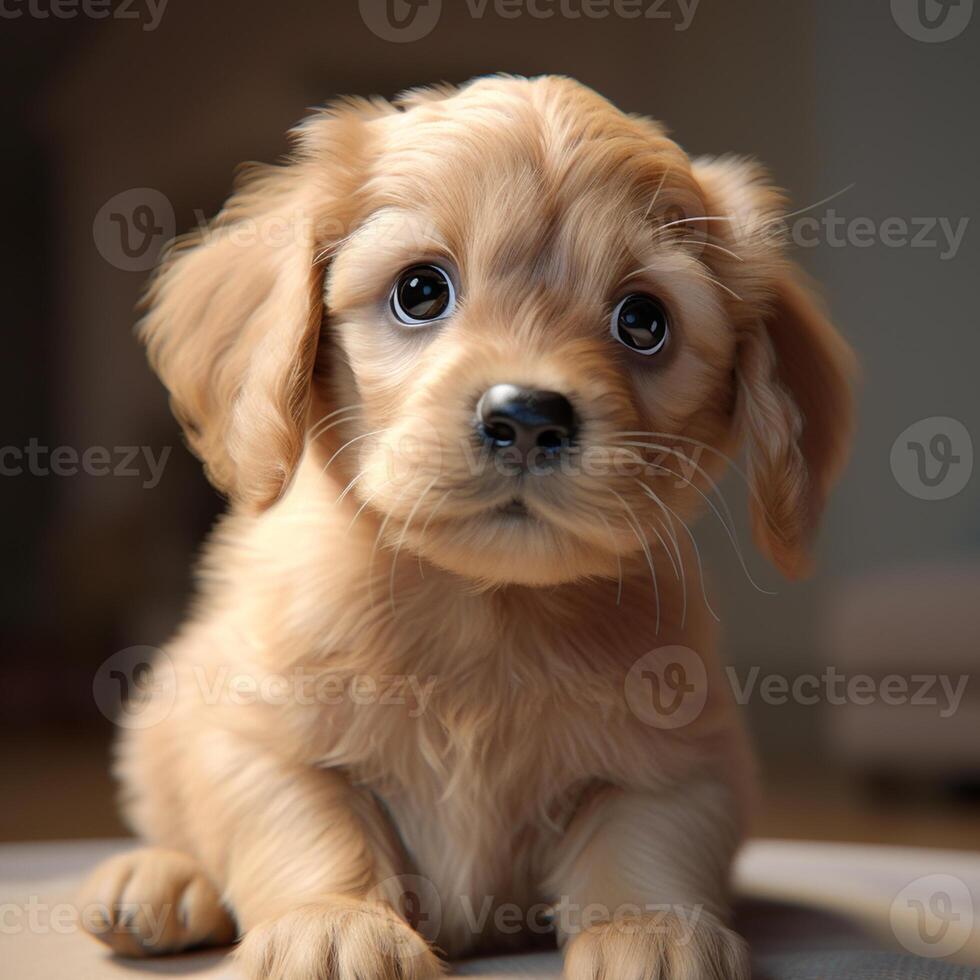
[[[81,935],[71,900],[132,841],[0,847],[0,971],[17,980],[237,980],[225,952],[115,959]],[[757,980],[977,980],[980,854],[756,841],[739,860],[739,928]],[[923,914],[925,917],[923,918]],[[915,956],[910,952],[925,955]],[[557,953],[458,964],[453,976],[556,980]]]

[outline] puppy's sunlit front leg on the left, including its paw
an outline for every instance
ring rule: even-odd
[[[401,870],[393,828],[335,770],[290,762],[230,735],[208,745],[220,767],[195,787],[191,825],[244,932],[246,977],[427,980],[425,940],[380,899]],[[388,896],[397,903],[398,888]]]

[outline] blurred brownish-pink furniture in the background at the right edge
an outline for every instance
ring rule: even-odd
[[[845,701],[824,708],[841,768],[886,784],[980,787],[980,564],[847,581],[829,604],[826,649]]]

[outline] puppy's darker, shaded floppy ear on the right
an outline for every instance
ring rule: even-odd
[[[736,428],[745,442],[752,527],[759,548],[790,578],[810,567],[808,548],[847,456],[853,427],[854,355],[783,255],[783,199],[740,160],[699,161],[712,234],[722,256],[736,329]],[[709,250],[711,251],[711,250]]]

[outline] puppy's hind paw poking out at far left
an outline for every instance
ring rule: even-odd
[[[120,956],[227,946],[235,938],[235,924],[197,862],[162,847],[101,864],[77,904],[85,930]]]

